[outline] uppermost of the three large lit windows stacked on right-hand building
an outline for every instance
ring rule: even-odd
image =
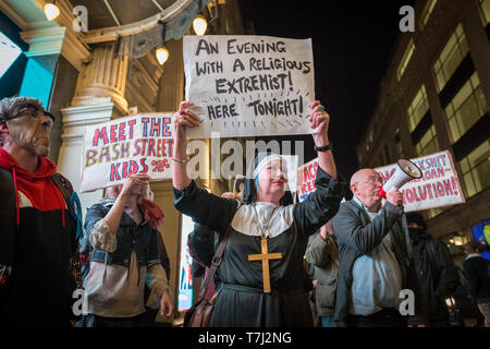
[[[460,24],[433,65],[439,92],[444,88],[468,52],[468,43],[466,41],[463,26]]]

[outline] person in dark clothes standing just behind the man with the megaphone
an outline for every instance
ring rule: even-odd
[[[426,232],[427,225],[419,213],[407,213],[406,221],[428,325],[449,326],[450,314],[445,299],[460,286],[460,276],[451,253],[444,242]]]

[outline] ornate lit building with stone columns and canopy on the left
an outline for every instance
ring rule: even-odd
[[[237,0],[120,1],[111,2],[113,9],[105,8],[101,1],[57,0],[60,15],[51,22],[42,11],[49,2],[0,1],[0,32],[12,37],[23,50],[23,61],[14,67],[15,73],[9,72],[1,81],[2,86],[10,88],[2,88],[0,98],[36,97],[56,116],[49,157],[57,164],[58,171],[70,179],[75,191],[81,181],[86,127],[136,112],[173,115],[177,110],[184,99],[182,36],[195,34],[189,25],[196,14],[207,17],[208,35],[245,34]],[[87,32],[76,31],[76,5],[88,9]],[[210,22],[211,19],[215,21]],[[128,40],[124,40],[133,35],[130,33],[156,26],[158,20],[166,23],[170,33],[164,36],[170,52],[164,65],[158,63],[154,46],[147,53],[136,57],[134,46],[130,47]],[[143,34],[149,40],[149,34]],[[137,38],[144,41],[142,36]],[[208,145],[207,157],[212,152],[209,142]],[[204,169],[205,173],[209,170]],[[228,179],[204,180],[200,184],[217,194],[228,190]],[[176,309],[182,215],[173,205],[171,180],[152,182],[151,190],[166,213],[160,232],[170,258],[169,281]],[[84,214],[102,194],[102,190],[79,193]]]

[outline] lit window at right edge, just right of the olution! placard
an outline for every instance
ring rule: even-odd
[[[485,141],[460,161],[465,183],[466,197],[470,197],[490,185],[490,141]]]

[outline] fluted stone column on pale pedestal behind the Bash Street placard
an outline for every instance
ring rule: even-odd
[[[83,139],[87,125],[98,124],[127,115],[127,101],[123,97],[128,67],[128,50],[115,56],[115,43],[100,44],[94,48],[90,61],[82,68],[75,96],[70,107],[61,109],[63,115],[62,144],[58,169],[78,191]],[[78,193],[84,215],[102,196],[102,190]]]

